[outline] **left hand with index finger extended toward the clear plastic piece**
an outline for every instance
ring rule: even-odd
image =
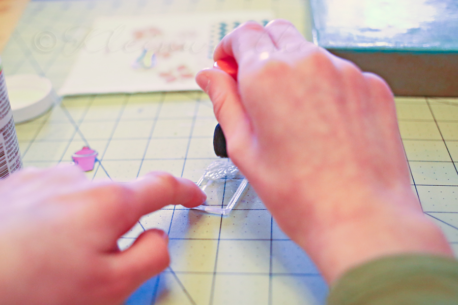
[[[168,266],[167,235],[117,240],[166,205],[195,207],[191,181],[151,173],[130,183],[91,182],[76,166],[26,168],[0,181],[0,303],[116,304]]]

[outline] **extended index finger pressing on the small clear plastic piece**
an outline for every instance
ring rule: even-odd
[[[163,172],[153,172],[129,183],[97,182],[75,200],[82,202],[85,224],[99,230],[110,251],[113,244],[126,233],[141,216],[167,205],[187,208],[203,204],[205,193],[190,180],[176,178]]]

